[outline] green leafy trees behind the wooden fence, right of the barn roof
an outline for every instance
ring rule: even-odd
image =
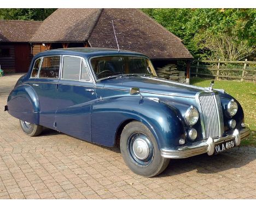
[[[195,58],[216,58],[220,41],[219,50],[222,48],[223,52],[226,51],[225,59],[254,56],[255,9],[142,10],[181,38]],[[235,50],[232,51],[233,55],[227,56],[229,47],[235,47]]]

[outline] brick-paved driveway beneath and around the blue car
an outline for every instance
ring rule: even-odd
[[[28,137],[3,112],[21,75],[0,77],[1,199],[256,199],[256,149],[172,160],[155,178],[133,174],[118,148],[52,130]]]

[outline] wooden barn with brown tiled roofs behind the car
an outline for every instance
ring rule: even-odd
[[[2,57],[0,49],[1,68],[26,71],[31,56],[54,48],[117,48],[112,20],[120,49],[147,54],[160,70],[182,61],[189,78],[193,56],[182,40],[139,9],[57,9],[43,22],[2,20],[0,48],[10,53],[2,49]],[[22,69],[19,60],[26,63]]]

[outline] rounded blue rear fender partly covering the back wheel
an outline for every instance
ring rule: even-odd
[[[8,112],[13,117],[39,124],[39,101],[36,92],[28,84],[14,88],[7,99]]]

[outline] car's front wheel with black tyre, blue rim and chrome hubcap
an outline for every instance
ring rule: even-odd
[[[124,127],[120,150],[127,166],[136,174],[152,177],[162,173],[170,159],[161,156],[150,130],[138,121]]]

